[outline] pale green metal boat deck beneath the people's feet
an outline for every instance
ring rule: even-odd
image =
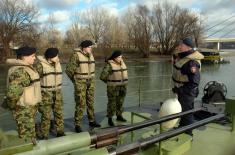
[[[195,107],[202,106],[201,102],[196,102]],[[146,118],[141,118],[137,116],[132,123],[141,122],[145,119],[156,119],[158,118],[160,103],[154,105],[143,105],[141,107],[128,107],[125,108],[124,117],[128,120],[127,123],[120,123],[115,121],[116,125],[125,125],[131,124],[133,120],[131,120],[131,112],[136,114],[141,114],[146,116]],[[224,104],[204,104],[203,107],[212,114],[222,113],[224,111]],[[97,122],[102,124],[102,128],[109,127],[107,124],[106,112],[96,113]],[[200,115],[200,114],[197,114]],[[202,117],[208,117],[203,115]],[[0,128],[7,133],[17,135],[16,126],[14,120],[11,120],[11,113],[4,112],[1,113],[1,125]],[[202,119],[202,118],[199,118]],[[10,120],[10,121],[9,121]],[[156,127],[156,126],[155,126]],[[141,129],[135,132],[135,138],[131,139],[130,135],[127,134],[129,140],[122,140],[120,144],[129,143],[131,141],[135,141],[139,138],[143,138],[143,133],[146,133],[155,128],[154,126],[148,129]],[[84,131],[91,130],[101,130],[101,129],[91,129],[88,126],[87,117],[83,117],[82,129]],[[65,132],[66,134],[74,134],[74,125],[73,118],[65,119]],[[184,153],[183,155],[233,155],[234,144],[235,144],[235,132],[231,132],[231,124],[218,124],[218,123],[210,123],[204,127],[199,127],[193,130],[193,141],[192,146],[189,151]],[[55,138],[55,135],[51,133],[49,138]],[[233,150],[234,149],[234,150]]]

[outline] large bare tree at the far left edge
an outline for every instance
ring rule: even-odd
[[[37,8],[25,0],[0,1],[0,40],[3,44],[1,61],[10,54],[10,42],[17,34],[28,30],[34,24],[37,15]]]

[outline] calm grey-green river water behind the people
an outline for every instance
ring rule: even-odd
[[[235,56],[229,57],[229,64],[203,65],[200,84],[200,96],[203,88],[209,81],[223,82],[228,89],[228,96],[234,96],[235,91]],[[96,90],[95,90],[95,111],[105,111],[107,105],[106,85],[99,80],[99,75],[104,63],[96,65]],[[128,93],[125,100],[125,107],[140,104],[156,104],[173,94],[171,93],[171,62],[128,62]],[[64,66],[63,66],[64,67]],[[0,101],[5,91],[5,79],[7,67],[0,65]],[[73,117],[74,95],[73,85],[68,77],[63,76],[64,114],[65,118]]]

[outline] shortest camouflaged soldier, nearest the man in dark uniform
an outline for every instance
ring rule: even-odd
[[[107,117],[108,124],[114,126],[112,117],[116,112],[117,120],[126,122],[122,117],[123,103],[126,96],[126,86],[128,82],[127,67],[122,59],[119,50],[113,52],[108,59],[106,66],[101,72],[100,79],[107,83]]]

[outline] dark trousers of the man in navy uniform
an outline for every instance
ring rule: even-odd
[[[191,110],[194,108],[194,96],[190,96],[186,93],[179,93],[178,100],[182,107],[182,112]],[[179,127],[190,125],[194,122],[193,114],[185,115],[181,117]],[[185,133],[192,135],[192,130],[186,131]]]

